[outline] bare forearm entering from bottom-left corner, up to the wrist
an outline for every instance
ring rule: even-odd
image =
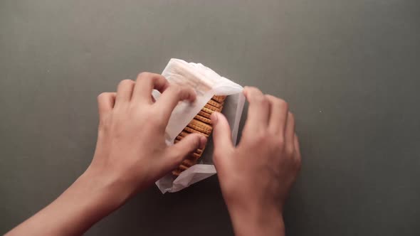
[[[125,200],[115,183],[86,171],[50,205],[6,235],[81,235]]]

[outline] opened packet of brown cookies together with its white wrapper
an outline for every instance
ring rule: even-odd
[[[200,63],[187,63],[172,58],[162,75],[169,83],[189,86],[196,92],[196,100],[193,103],[179,102],[172,112],[165,133],[167,144],[176,144],[191,133],[208,137],[204,149],[196,149],[177,169],[156,182],[162,193],[173,193],[216,173],[212,161],[211,113],[221,112],[226,116],[231,127],[233,143],[236,143],[245,97],[241,85],[218,75]],[[160,93],[157,90],[154,90],[152,95],[155,100],[159,100]]]

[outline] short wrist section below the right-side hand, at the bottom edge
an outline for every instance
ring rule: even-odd
[[[236,236],[285,235],[283,215],[275,207],[262,210],[228,206],[228,209]]]

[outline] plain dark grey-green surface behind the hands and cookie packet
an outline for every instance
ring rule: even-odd
[[[88,166],[100,92],[182,58],[290,103],[289,235],[419,235],[419,23],[417,0],[0,1],[0,233]],[[232,235],[216,176],[87,235],[196,230]]]

